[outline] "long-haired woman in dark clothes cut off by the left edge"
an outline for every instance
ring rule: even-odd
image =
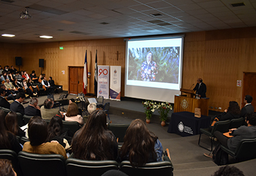
[[[6,130],[6,119],[3,110],[0,110],[0,149],[14,150],[19,153],[22,150],[17,137]]]

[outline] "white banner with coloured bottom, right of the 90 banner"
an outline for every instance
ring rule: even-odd
[[[121,98],[121,66],[110,66],[109,98],[120,101]]]

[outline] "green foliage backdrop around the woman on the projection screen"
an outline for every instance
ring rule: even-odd
[[[147,52],[152,51],[152,61],[156,62],[156,81],[178,84],[180,47],[130,48],[128,79],[141,81],[140,70],[146,61]]]

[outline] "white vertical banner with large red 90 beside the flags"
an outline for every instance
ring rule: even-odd
[[[109,66],[98,66],[98,94],[109,99]]]

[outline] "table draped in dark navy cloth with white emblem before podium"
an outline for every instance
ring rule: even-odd
[[[172,113],[168,133],[176,133],[181,136],[198,135],[200,128],[210,126],[210,117],[201,115],[200,118],[194,117],[194,113],[187,111]]]

